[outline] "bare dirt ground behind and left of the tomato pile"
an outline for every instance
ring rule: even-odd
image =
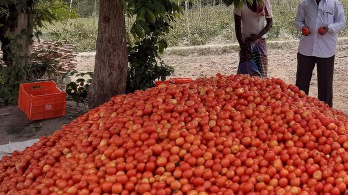
[[[268,76],[284,79],[287,83],[295,83],[297,41],[270,42],[268,44],[269,65]],[[174,67],[172,77],[198,78],[214,76],[217,73],[236,74],[238,65],[237,46],[205,45],[184,48],[169,48],[163,60]],[[93,71],[94,52],[80,53],[77,57],[80,72]],[[340,39],[334,67],[334,108],[348,113],[348,39]],[[313,72],[310,95],[317,96],[317,73]],[[72,80],[74,78],[71,78]],[[63,124],[79,115],[70,103],[67,104],[65,117],[30,122],[16,106],[0,108],[0,145],[8,141],[24,141],[49,135],[60,129]],[[2,114],[8,113],[6,116]]]

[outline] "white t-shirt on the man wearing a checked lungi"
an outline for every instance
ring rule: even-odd
[[[246,3],[243,8],[235,7],[234,14],[242,17],[241,28],[243,41],[251,34],[259,34],[266,26],[266,18],[272,18],[273,15],[271,5],[268,0],[264,0],[264,2],[269,13],[269,16],[266,17],[251,11]],[[266,38],[265,35],[262,37]]]

